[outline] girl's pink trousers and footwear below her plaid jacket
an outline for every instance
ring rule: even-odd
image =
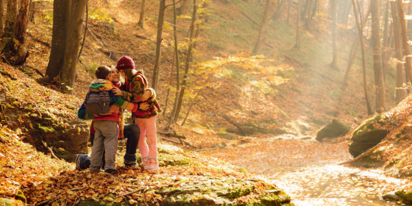
[[[136,118],[136,125],[140,129],[137,146],[141,154],[141,163],[145,165],[145,170],[157,170],[159,162],[157,161],[156,116],[148,119]],[[147,144],[145,136],[148,138]]]

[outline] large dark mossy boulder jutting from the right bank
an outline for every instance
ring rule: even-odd
[[[366,150],[376,146],[382,139],[386,137],[389,130],[382,130],[375,128],[374,124],[385,124],[381,115],[376,115],[370,119],[365,120],[352,134],[350,138],[352,144],[349,146],[349,152],[353,157],[358,157]]]

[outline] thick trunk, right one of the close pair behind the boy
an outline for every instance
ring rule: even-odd
[[[60,80],[63,86],[62,92],[73,94],[74,82],[77,77],[77,59],[82,40],[82,24],[87,0],[73,0],[71,2],[71,14],[69,32],[67,33],[65,58],[63,60]]]

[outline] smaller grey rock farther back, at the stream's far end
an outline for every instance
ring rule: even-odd
[[[322,141],[326,137],[340,137],[341,135],[349,133],[349,131],[349,124],[344,124],[338,119],[333,119],[331,124],[328,124],[318,131],[316,139],[317,141]]]

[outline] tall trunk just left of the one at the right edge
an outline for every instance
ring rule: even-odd
[[[406,86],[407,79],[403,68],[404,65],[400,63],[403,58],[403,48],[401,39],[402,36],[400,34],[398,7],[396,1],[390,1],[390,3],[393,19],[393,38],[395,39],[395,56],[398,60],[398,64],[396,64],[396,102],[400,102],[400,100],[403,100],[407,96],[406,89],[400,89]]]

